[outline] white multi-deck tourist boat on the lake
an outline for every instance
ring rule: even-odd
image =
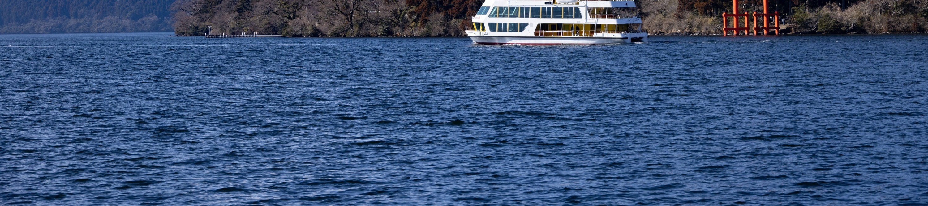
[[[486,0],[467,35],[480,45],[647,42],[635,1]]]

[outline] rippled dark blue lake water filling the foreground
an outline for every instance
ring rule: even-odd
[[[0,35],[0,204],[928,205],[928,35]]]

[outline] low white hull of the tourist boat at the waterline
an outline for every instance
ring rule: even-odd
[[[470,36],[478,45],[602,45],[647,42],[648,37]]]

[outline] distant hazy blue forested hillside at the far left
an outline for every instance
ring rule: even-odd
[[[171,32],[174,0],[0,0],[0,33]]]

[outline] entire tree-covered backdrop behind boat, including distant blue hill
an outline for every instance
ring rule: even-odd
[[[651,34],[719,34],[730,0],[636,0]],[[462,36],[483,0],[0,0],[0,33]],[[762,0],[741,0],[741,11]],[[791,33],[928,31],[928,0],[769,0]]]

